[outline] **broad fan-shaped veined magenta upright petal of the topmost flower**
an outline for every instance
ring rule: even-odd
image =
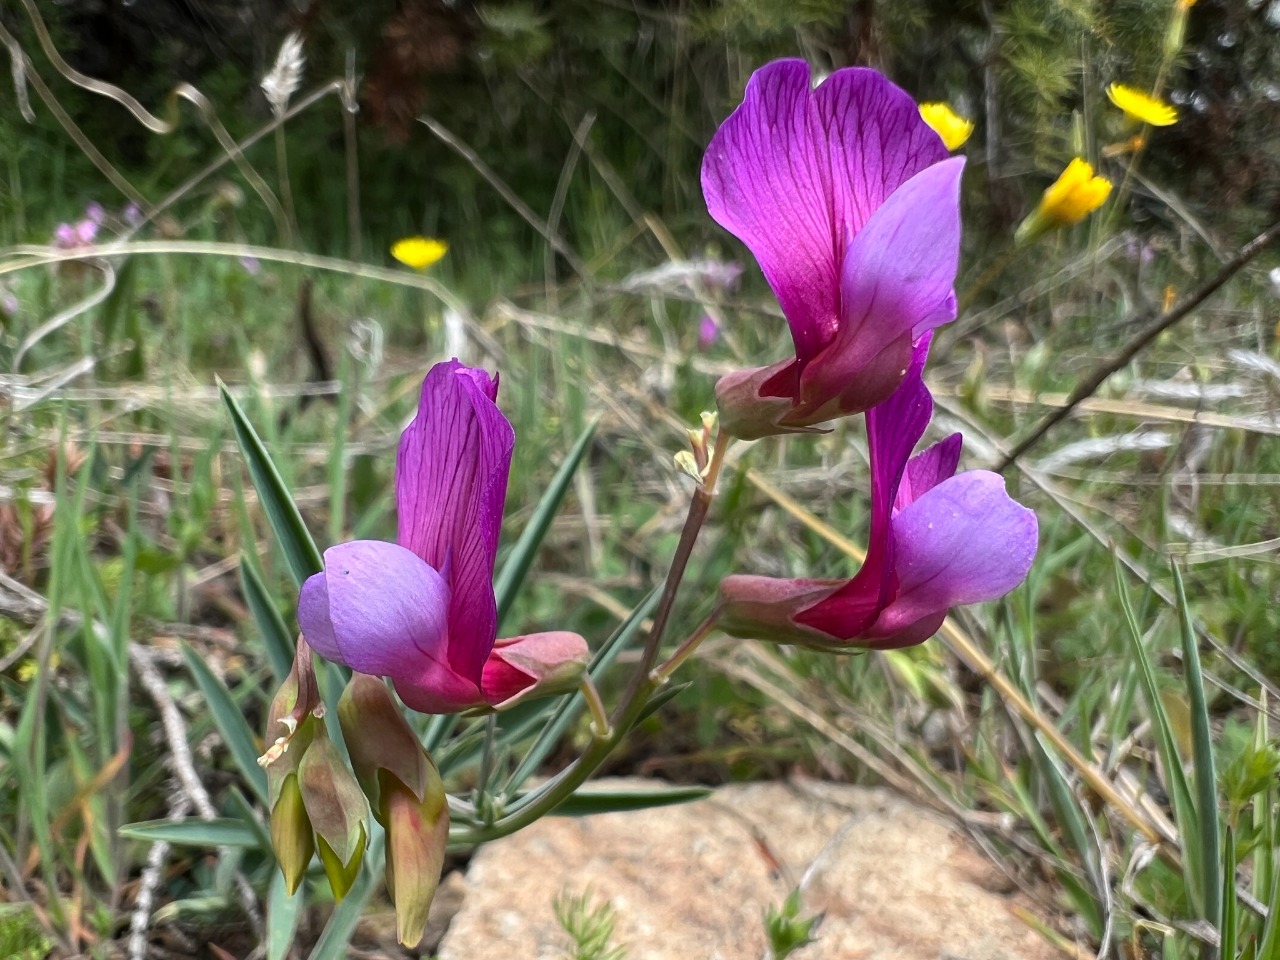
[[[879,73],[837,70],[810,90],[801,60],[762,67],[703,160],[712,218],[755,255],[806,362],[835,335],[849,238],[947,157],[915,104]]]

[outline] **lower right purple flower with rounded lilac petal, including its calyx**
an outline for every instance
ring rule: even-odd
[[[849,581],[730,576],[719,626],[815,648],[891,649],[928,640],[951,607],[1004,596],[1036,558],[1036,515],[986,470],[956,475],[960,434],[911,457],[933,415],[922,338],[902,385],[867,413],[870,544]]]

